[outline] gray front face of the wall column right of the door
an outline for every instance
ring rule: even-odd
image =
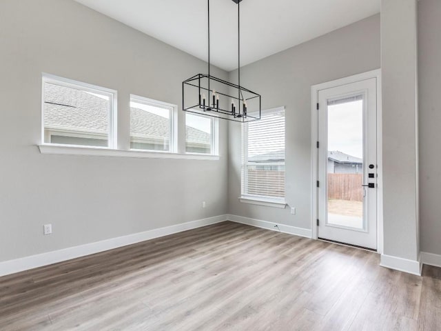
[[[384,254],[418,259],[416,0],[382,0]]]

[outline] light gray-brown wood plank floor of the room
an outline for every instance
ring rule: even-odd
[[[441,270],[224,222],[0,278],[0,330],[441,330]]]

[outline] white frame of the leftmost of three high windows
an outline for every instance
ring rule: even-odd
[[[116,90],[110,88],[103,88],[101,86],[92,85],[89,83],[83,83],[81,81],[74,81],[73,79],[67,79],[64,77],[55,76],[54,74],[42,74],[41,83],[41,145],[49,146],[65,146],[74,148],[102,148],[102,149],[115,149],[116,148],[116,137],[117,137],[117,125],[116,119],[117,114],[117,98],[118,93]],[[107,134],[107,146],[83,146],[83,145],[73,145],[73,144],[56,144],[56,143],[45,143],[45,132],[44,132],[44,97],[45,83],[50,83],[58,86],[64,86],[67,88],[74,88],[76,90],[83,90],[85,92],[101,94],[109,97],[109,132]],[[57,130],[55,130],[57,131]],[[61,132],[62,130],[60,130]],[[81,134],[72,134],[72,137],[79,137]]]

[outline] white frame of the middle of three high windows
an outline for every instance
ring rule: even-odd
[[[142,103],[143,105],[153,106],[156,108],[170,109],[170,145],[169,145],[169,150],[143,150],[137,148],[130,148],[130,150],[139,151],[139,152],[177,153],[178,152],[178,123],[177,123],[178,106],[172,103],[167,103],[164,101],[158,101],[146,97],[140,97],[139,95],[135,95],[135,94],[130,94],[130,103],[132,102]],[[130,128],[129,128],[129,139],[131,142]]]

